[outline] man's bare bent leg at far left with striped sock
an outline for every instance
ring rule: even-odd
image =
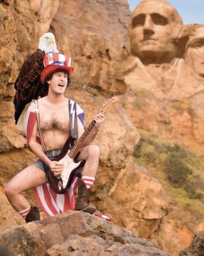
[[[44,171],[37,167],[25,168],[20,171],[13,179],[5,185],[5,195],[10,201],[12,207],[24,218],[27,218],[27,214],[36,212],[36,209],[31,209],[31,206],[27,199],[24,198],[22,193],[23,190],[39,186],[46,182],[46,174]],[[27,220],[27,219],[26,219]],[[28,222],[28,221],[27,221]]]

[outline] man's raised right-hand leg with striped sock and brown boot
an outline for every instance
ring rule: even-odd
[[[78,160],[86,160],[82,174],[82,180],[78,185],[78,197],[75,202],[75,210],[89,212],[96,211],[95,206],[88,205],[88,189],[92,186],[99,167],[99,147],[97,145],[87,145],[80,149]]]

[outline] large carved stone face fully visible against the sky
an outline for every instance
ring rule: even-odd
[[[158,1],[141,3],[133,12],[131,53],[141,61],[171,61],[177,54],[172,44],[173,22],[168,6]]]

